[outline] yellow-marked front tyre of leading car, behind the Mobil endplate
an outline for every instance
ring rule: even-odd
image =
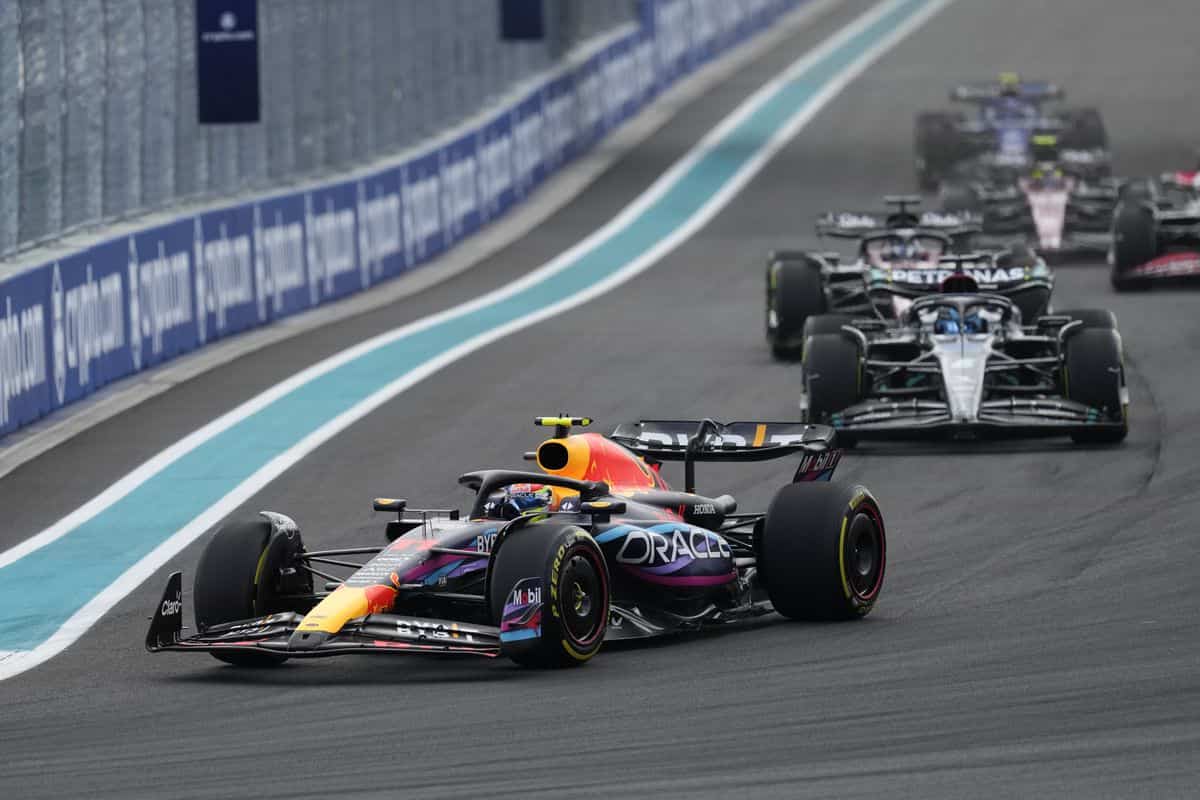
[[[499,540],[487,596],[500,651],[524,667],[574,667],[594,656],[608,626],[604,553],[575,525],[534,522]]]

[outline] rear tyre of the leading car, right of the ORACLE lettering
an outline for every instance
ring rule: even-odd
[[[886,567],[883,515],[862,486],[792,483],[767,510],[758,577],[784,616],[866,616],[883,588]]]

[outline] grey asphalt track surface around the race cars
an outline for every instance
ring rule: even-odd
[[[486,265],[248,355],[18,469],[0,481],[0,548],[318,357],[546,261],[868,5],[842,4],[685,109]],[[812,243],[827,206],[912,188],[917,108],[941,106],[956,78],[1016,67],[1103,108],[1118,173],[1188,166],[1196,41],[1192,0],[959,0],[662,263],[419,384],[244,511],[293,515],[310,546],[372,543],[383,521],[371,497],[462,505],[454,479],[520,464],[535,413],[790,419],[798,374],[762,341],[762,254]],[[889,525],[884,595],[863,622],[773,616],[606,649],[563,673],[418,658],[246,673],[142,650],[156,579],[66,652],[0,684],[0,796],[1195,796],[1200,291],[1115,295],[1093,264],[1060,269],[1057,299],[1118,315],[1128,441],[852,453],[840,477],[869,485]],[[754,509],[786,474],[713,467],[700,485]],[[198,554],[169,567],[185,589]]]

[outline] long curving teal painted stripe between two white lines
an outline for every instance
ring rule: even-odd
[[[594,285],[654,247],[761,152],[797,109],[929,2],[896,5],[780,86],[644,213],[563,271],[511,297],[391,342],[296,389],[182,456],[66,536],[0,569],[0,650],[28,650],[44,642],[122,572],[272,458],[404,373],[476,335]]]

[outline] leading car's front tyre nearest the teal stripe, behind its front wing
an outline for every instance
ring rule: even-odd
[[[290,521],[289,521],[290,522]],[[281,585],[283,567],[304,549],[300,531],[272,536],[266,518],[234,519],[222,525],[200,554],[196,567],[193,602],[196,626],[203,632],[212,625],[265,616],[288,607],[281,594],[311,594],[312,576],[307,570],[289,571],[294,585]],[[265,652],[220,650],[212,657],[240,667],[274,667],[287,656]]]

